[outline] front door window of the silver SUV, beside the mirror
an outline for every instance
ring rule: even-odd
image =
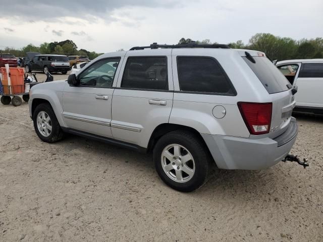
[[[120,58],[101,59],[79,75],[80,86],[112,87]]]

